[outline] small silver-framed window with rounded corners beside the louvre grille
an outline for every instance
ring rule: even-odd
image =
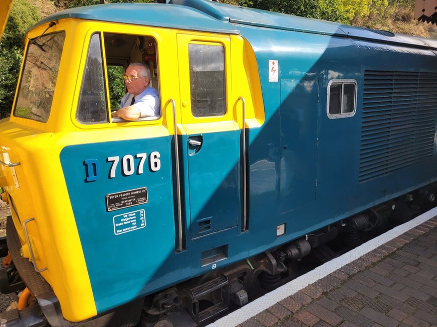
[[[355,79],[332,79],[328,83],[327,113],[331,119],[350,117],[356,110]]]

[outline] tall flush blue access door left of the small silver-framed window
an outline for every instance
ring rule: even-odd
[[[290,230],[317,224],[316,200],[317,128],[306,121],[317,121],[319,84],[317,79],[281,79],[281,219]],[[299,214],[296,214],[296,211]],[[297,219],[305,214],[311,219]]]

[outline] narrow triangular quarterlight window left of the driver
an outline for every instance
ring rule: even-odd
[[[76,118],[83,124],[108,122],[100,33],[91,36]]]

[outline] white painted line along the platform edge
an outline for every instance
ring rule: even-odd
[[[261,311],[269,308],[270,306],[276,304],[287,296],[293,295],[302,288],[314,283],[330,274],[331,272],[341,268],[342,266],[352,262],[353,260],[363,256],[364,254],[370,252],[376,247],[388,242],[389,240],[403,234],[404,232],[414,228],[415,226],[431,219],[437,215],[437,207],[415,217],[414,219],[405,222],[384,234],[375,237],[368,242],[361,244],[360,246],[350,250],[343,255],[328,261],[314,270],[291,280],[287,284],[267,293],[266,295],[256,299],[249,304],[246,304],[242,308],[228,314],[227,316],[218,319],[217,321],[209,324],[207,327],[234,327],[239,323],[242,323],[254,315],[260,313]]]

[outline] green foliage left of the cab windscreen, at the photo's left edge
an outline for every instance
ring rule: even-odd
[[[15,0],[0,40],[0,118],[10,115],[23,57],[26,30],[41,19],[29,0]]]

